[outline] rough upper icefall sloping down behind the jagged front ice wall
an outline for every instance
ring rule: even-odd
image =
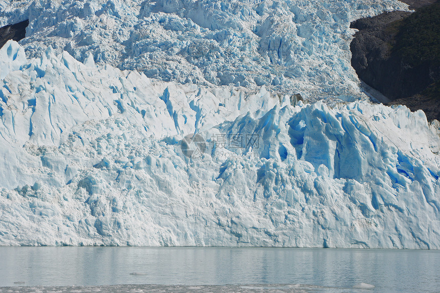
[[[395,0],[0,1],[0,25],[30,19],[28,57],[51,45],[79,61],[199,85],[261,85],[309,100],[362,97],[350,21],[406,10]]]

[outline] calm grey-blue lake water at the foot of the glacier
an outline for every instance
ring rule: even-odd
[[[0,292],[8,290],[438,292],[440,251],[0,247]]]

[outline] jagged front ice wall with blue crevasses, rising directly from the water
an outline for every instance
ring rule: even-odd
[[[440,248],[422,111],[294,106],[88,56],[49,47],[0,81],[0,244]]]

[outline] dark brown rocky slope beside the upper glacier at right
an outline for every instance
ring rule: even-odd
[[[420,3],[418,4],[421,5]],[[416,12],[393,11],[351,23],[350,49],[360,79],[391,104],[440,119],[440,2]]]

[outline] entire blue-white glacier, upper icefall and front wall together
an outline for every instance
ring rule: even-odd
[[[440,249],[440,124],[350,66],[350,21],[395,9],[0,1],[29,19],[0,49],[0,245]]]

